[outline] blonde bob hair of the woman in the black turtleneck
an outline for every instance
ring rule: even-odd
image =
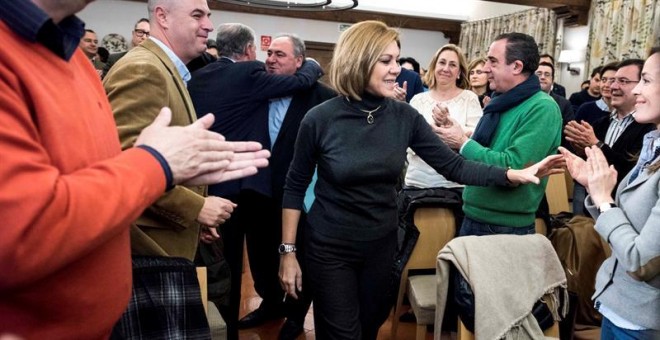
[[[392,42],[401,45],[399,32],[380,21],[363,21],[344,31],[330,63],[329,78],[335,90],[351,99],[362,100],[378,58]]]

